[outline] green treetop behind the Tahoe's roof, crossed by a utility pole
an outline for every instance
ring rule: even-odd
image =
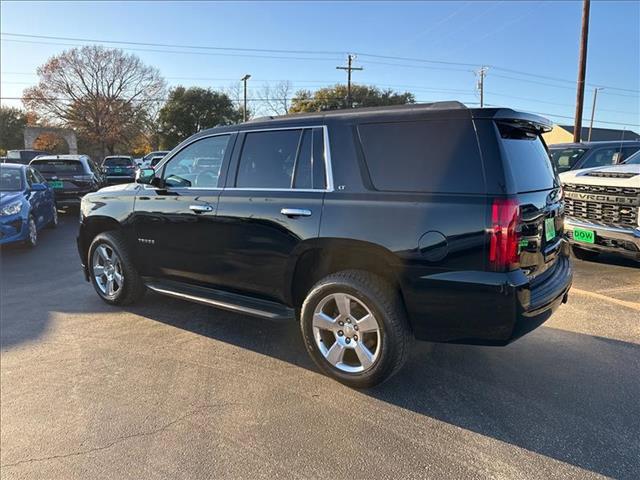
[[[381,90],[367,85],[351,85],[351,97],[355,108],[415,103],[415,97],[410,92],[397,93],[391,89]],[[343,108],[349,108],[347,86],[335,85],[315,92],[298,91],[293,97],[289,112],[320,112]]]

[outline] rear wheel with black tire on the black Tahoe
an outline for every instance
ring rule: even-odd
[[[302,305],[305,346],[328,376],[354,388],[373,387],[400,370],[410,333],[399,292],[360,270],[318,282]]]

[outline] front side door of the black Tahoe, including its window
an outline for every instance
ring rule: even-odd
[[[215,216],[235,133],[201,137],[159,168],[164,187],[139,186],[133,224],[143,275],[210,284]]]

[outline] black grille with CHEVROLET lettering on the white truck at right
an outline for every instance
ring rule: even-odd
[[[566,214],[569,217],[623,228],[638,226],[640,188],[565,184],[564,190]],[[609,197],[611,201],[579,199],[575,195],[572,198],[571,192]],[[620,201],[625,199],[632,204]]]

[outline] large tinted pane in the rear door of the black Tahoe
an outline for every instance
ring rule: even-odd
[[[236,176],[240,188],[291,188],[301,130],[247,133]]]

